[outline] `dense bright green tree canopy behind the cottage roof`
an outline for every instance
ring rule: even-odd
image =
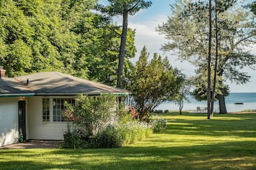
[[[116,84],[121,29],[94,13],[95,0],[4,0],[0,4],[0,65],[8,77],[60,71]],[[103,24],[104,23],[104,24]],[[126,60],[135,56],[128,29]]]

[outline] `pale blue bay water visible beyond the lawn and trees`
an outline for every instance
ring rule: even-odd
[[[229,96],[225,98],[225,102],[228,113],[242,110],[256,111],[256,93],[230,93]],[[207,101],[198,101],[194,98],[190,98],[190,103],[185,101],[182,110],[196,111],[197,107],[207,108]],[[156,110],[179,110],[179,106],[172,102],[164,102],[159,105]],[[219,110],[218,101],[214,103],[214,110],[216,110],[216,112]]]

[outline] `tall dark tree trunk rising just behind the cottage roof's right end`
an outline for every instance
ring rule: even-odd
[[[125,60],[125,44],[126,44],[126,37],[127,37],[127,29],[128,29],[128,11],[124,11],[123,12],[123,30],[121,34],[121,44],[119,49],[117,88],[122,88],[122,73],[123,73],[123,64]]]

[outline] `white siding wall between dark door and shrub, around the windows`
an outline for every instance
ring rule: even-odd
[[[43,98],[30,97],[28,105],[28,128],[30,139],[63,140],[67,122],[53,122],[53,98],[50,98],[50,121],[43,122]]]

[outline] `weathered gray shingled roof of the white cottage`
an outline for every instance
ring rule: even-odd
[[[28,81],[28,84],[27,84]],[[0,97],[10,95],[128,95],[128,90],[65,75],[61,72],[37,72],[14,78],[0,79]]]

